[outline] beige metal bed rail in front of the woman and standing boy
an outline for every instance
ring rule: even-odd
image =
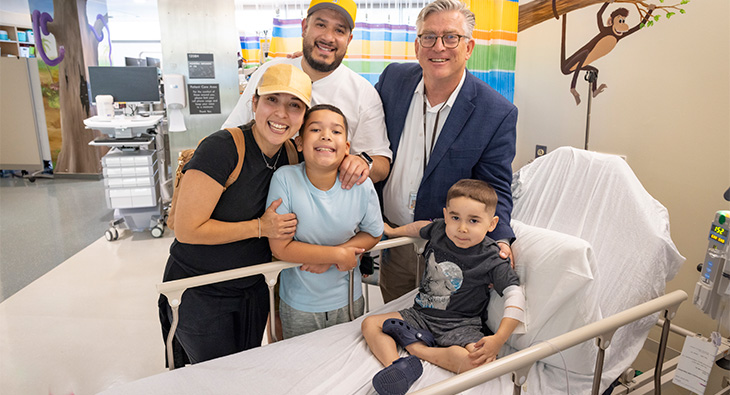
[[[382,240],[378,242],[369,251],[380,251],[393,247],[400,247],[408,244],[413,244],[414,248],[418,253],[423,251],[426,245],[426,240],[416,237],[399,237],[395,239]],[[182,295],[188,288],[199,287],[202,285],[209,285],[219,283],[228,280],[234,280],[243,277],[255,276],[263,274],[266,279],[266,285],[269,287],[269,329],[272,337],[276,341],[276,316],[274,314],[274,286],[276,285],[279,273],[284,269],[301,266],[300,263],[274,261],[269,263],[262,263],[259,265],[242,267],[239,269],[225,270],[222,272],[209,273],[201,276],[188,277],[180,280],[167,281],[157,284],[157,292],[165,295],[167,303],[172,309],[172,323],[170,325],[170,332],[167,334],[166,349],[167,349],[167,360],[170,370],[175,369],[172,340],[175,336],[177,324],[180,320],[179,308],[182,303]],[[353,278],[353,271],[350,270],[350,278]],[[349,300],[349,313],[350,319],[355,319],[354,308],[353,308],[353,297],[354,297],[355,283],[350,281],[350,288],[348,290]]]

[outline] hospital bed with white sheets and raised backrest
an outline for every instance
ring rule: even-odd
[[[560,148],[515,174],[513,196],[513,251],[526,294],[526,332],[513,335],[496,362],[459,375],[424,362],[423,376],[411,391],[603,393],[634,362],[657,318],[664,319],[666,339],[687,295],[664,295],[664,289],[684,258],[670,239],[666,209],[644,190],[625,161]],[[414,241],[389,240],[378,248]],[[259,266],[278,272],[292,265]],[[242,272],[234,275],[260,268],[237,269]],[[177,285],[221,281],[201,277]],[[273,278],[275,274],[268,275],[267,281]],[[166,285],[159,288],[173,305],[184,301]],[[415,292],[370,314],[408,307]],[[493,293],[492,328],[501,319],[500,303]],[[105,394],[373,394],[371,380],[382,367],[360,333],[362,319],[151,376]],[[661,362],[657,368],[662,371]],[[657,374],[653,381],[660,380]]]

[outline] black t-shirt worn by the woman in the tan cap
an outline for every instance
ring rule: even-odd
[[[252,123],[242,125],[246,141],[246,156],[238,179],[226,189],[213,209],[211,218],[225,222],[239,222],[259,218],[266,210],[266,197],[274,170],[266,167],[262,152],[254,140]],[[276,168],[289,163],[286,149],[281,147]],[[269,164],[277,155],[266,158]],[[221,185],[238,162],[238,152],[233,137],[226,130],[220,130],[205,138],[195,149],[183,172],[195,169],[202,171]],[[168,267],[165,281],[197,276],[222,270],[237,269],[271,261],[271,250],[266,238],[251,238],[219,245],[181,243],[177,239],[170,247],[175,264]],[[246,287],[263,276],[224,283],[223,286]]]

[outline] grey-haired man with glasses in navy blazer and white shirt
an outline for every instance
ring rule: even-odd
[[[396,226],[439,218],[456,181],[486,181],[499,198],[499,223],[488,236],[499,242],[503,257],[511,257],[517,108],[466,70],[474,25],[474,14],[458,0],[427,5],[416,21],[419,63],[391,64],[380,75],[375,88],[393,152],[383,208]],[[412,250],[384,254],[380,276],[386,302],[416,287],[419,258]]]

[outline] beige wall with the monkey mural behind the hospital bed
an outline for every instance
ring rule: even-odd
[[[636,8],[623,6],[629,25],[638,23]],[[567,55],[597,33],[599,8],[568,15]],[[667,290],[690,295],[675,323],[708,336],[717,323],[691,298],[709,224],[716,210],[730,208],[722,199],[730,187],[730,2],[693,1],[684,8],[686,14],[662,17],[595,62],[608,89],[593,100],[589,149],[627,155],[644,187],[669,210],[672,239],[687,262]],[[518,34],[514,169],[534,157],[536,144],[548,151],[583,147],[588,86],[581,74],[583,102],[576,106],[570,76],[559,69],[560,37],[555,19]]]

